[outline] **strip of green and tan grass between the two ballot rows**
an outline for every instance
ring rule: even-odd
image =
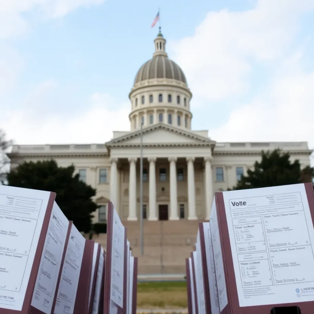
[[[186,281],[139,282],[138,309],[187,308]]]

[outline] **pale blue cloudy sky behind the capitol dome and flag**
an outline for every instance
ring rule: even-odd
[[[314,149],[314,0],[0,0],[0,128],[16,144],[104,143],[130,129],[128,93],[168,56],[217,142]]]

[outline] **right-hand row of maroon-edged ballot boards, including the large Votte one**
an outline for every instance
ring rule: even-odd
[[[311,183],[216,192],[187,262],[189,313],[314,313],[313,217]]]

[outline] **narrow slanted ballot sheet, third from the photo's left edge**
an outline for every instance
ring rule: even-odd
[[[73,314],[84,247],[84,237],[72,225],[58,288],[55,314]]]

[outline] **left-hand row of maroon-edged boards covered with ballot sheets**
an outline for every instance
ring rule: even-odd
[[[135,314],[138,263],[113,204],[106,252],[55,197],[0,186],[0,313]]]

